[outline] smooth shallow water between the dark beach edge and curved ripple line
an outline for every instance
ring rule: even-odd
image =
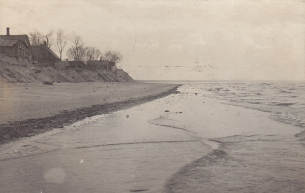
[[[147,122],[164,114],[170,97],[3,147],[1,192],[161,191],[210,151],[185,130]]]

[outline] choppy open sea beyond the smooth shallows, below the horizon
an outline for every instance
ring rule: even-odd
[[[305,127],[305,82],[205,82],[189,84],[205,97],[270,112],[271,118]],[[200,88],[199,88],[200,87]]]

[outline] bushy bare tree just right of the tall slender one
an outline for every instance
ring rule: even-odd
[[[72,46],[68,49],[68,56],[74,61],[84,61],[85,48],[80,35],[73,32]],[[77,68],[77,65],[76,65]]]

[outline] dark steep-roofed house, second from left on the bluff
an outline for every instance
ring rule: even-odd
[[[55,62],[60,62],[60,58],[47,47],[47,42],[39,46],[32,46],[33,59],[37,60],[38,63],[46,63],[54,65]]]

